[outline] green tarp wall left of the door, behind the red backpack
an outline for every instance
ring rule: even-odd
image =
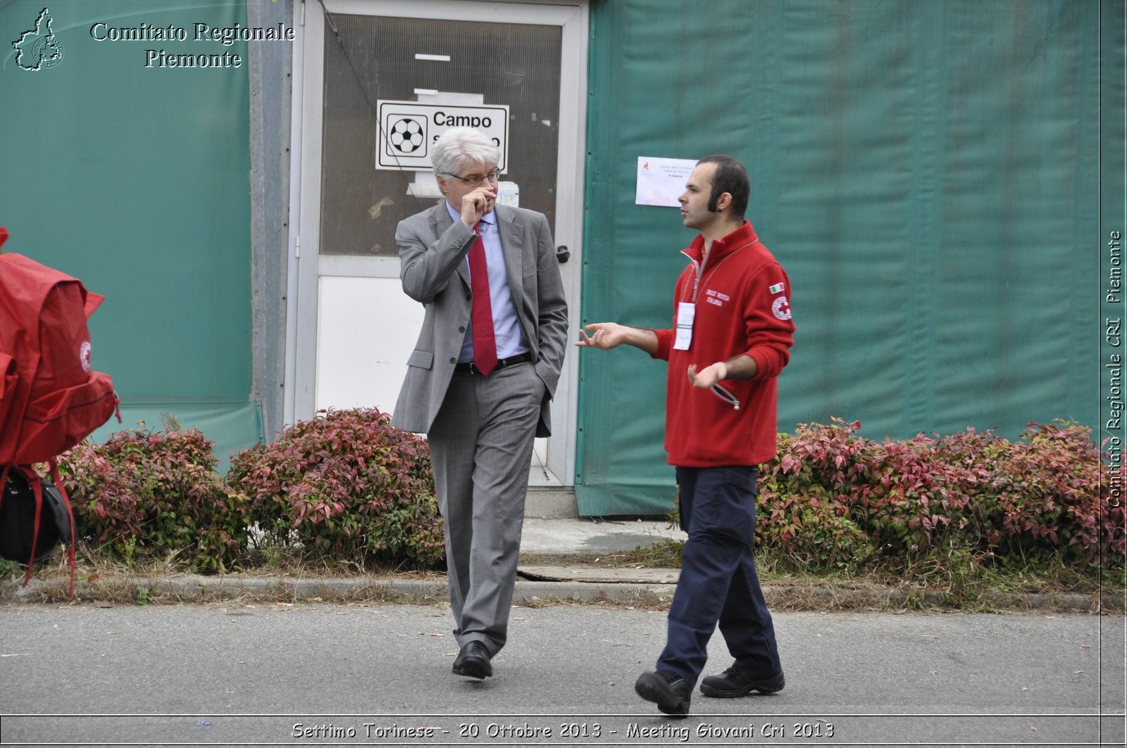
[[[249,401],[250,135],[247,44],[195,41],[195,24],[246,26],[246,3],[55,0],[62,56],[35,62],[43,2],[0,3],[0,225],[5,249],[106,296],[90,318],[92,364],[122,398],[98,431],[160,428],[169,412],[230,451],[260,438]],[[41,21],[45,24],[45,21]],[[96,24],[105,24],[91,32]],[[109,29],[184,29],[125,41]],[[117,32],[121,34],[119,32]],[[30,48],[29,48],[30,47]],[[239,55],[241,65],[145,66],[147,50]],[[210,62],[210,60],[208,60]]]

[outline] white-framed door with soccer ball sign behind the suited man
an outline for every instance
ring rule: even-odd
[[[399,284],[394,230],[441,194],[411,163],[418,127],[381,107],[418,103],[451,124],[447,108],[467,124],[482,108],[507,114],[506,126],[489,123],[507,152],[502,198],[544,213],[567,247],[559,268],[577,320],[586,0],[325,0],[295,6],[295,27],[286,422],[327,408],[391,412],[423,321]],[[531,484],[574,483],[577,372],[569,351]]]

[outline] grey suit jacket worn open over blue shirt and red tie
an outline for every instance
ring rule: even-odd
[[[559,382],[568,337],[556,246],[542,213],[505,205],[494,210],[509,293],[536,374],[545,385],[536,436],[549,436],[549,401]],[[470,324],[472,295],[465,256],[473,241],[469,226],[451,220],[445,201],[401,221],[396,230],[403,292],[426,308],[391,418],[397,428],[429,431],[446,397]]]

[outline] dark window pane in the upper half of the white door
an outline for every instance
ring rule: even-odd
[[[378,100],[509,107],[505,181],[556,230],[561,28],[334,14],[325,25],[321,255],[397,257],[441,199],[433,172],[376,169]],[[334,33],[340,34],[343,46]]]

